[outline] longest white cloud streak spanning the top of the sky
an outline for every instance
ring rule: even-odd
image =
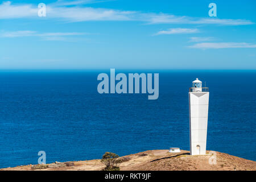
[[[147,22],[149,24],[219,24],[228,26],[254,24],[250,20],[244,19],[193,18],[189,16],[176,16],[163,13],[141,13],[139,11],[121,11],[80,6],[85,3],[97,2],[105,1],[77,0],[49,3],[46,5],[46,18],[57,18],[69,22],[90,20],[134,20]],[[38,18],[38,7],[26,3],[12,4],[10,1],[3,2],[0,4],[0,19],[8,18]]]

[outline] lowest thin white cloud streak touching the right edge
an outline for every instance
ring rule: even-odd
[[[256,48],[256,44],[249,43],[235,43],[235,42],[221,42],[221,43],[197,43],[189,48],[198,49],[223,49],[223,48]]]

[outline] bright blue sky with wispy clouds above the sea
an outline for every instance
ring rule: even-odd
[[[256,69],[255,23],[254,0],[0,1],[0,69]]]

